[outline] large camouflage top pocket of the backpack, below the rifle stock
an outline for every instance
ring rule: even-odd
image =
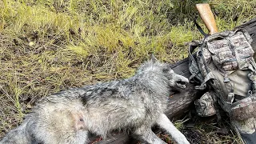
[[[207,49],[212,54],[214,64],[219,70],[232,73],[234,70],[243,70],[249,65],[254,50],[247,41],[243,31],[223,32],[217,37],[208,38]],[[222,35],[222,36],[221,36]]]

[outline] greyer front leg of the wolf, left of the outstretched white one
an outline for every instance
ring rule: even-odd
[[[163,142],[161,138],[158,138],[158,136],[154,134],[151,127],[140,127],[134,131],[134,135],[136,135],[143,143],[166,144],[166,142]]]

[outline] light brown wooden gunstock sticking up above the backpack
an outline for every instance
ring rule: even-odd
[[[196,4],[196,8],[202,18],[202,21],[205,23],[210,34],[218,33],[218,28],[214,19],[214,14],[210,10],[210,5],[208,3]]]

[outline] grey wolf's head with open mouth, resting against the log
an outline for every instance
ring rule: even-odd
[[[154,55],[138,69],[138,74],[149,82],[155,81],[154,85],[160,86],[160,83],[164,82],[172,90],[184,89],[189,82],[187,78],[176,74],[170,64],[159,62]]]

